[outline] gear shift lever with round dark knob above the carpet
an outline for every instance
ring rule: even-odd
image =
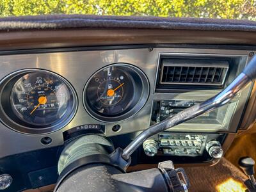
[[[238,164],[240,168],[244,171],[245,175],[249,177],[253,186],[255,186],[256,182],[253,176],[255,161],[251,157],[241,157]]]

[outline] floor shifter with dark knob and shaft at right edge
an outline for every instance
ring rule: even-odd
[[[238,164],[244,171],[245,175],[249,177],[249,179],[244,182],[245,186],[248,188],[247,191],[256,191],[256,182],[253,176],[255,161],[251,157],[241,157],[238,161]]]

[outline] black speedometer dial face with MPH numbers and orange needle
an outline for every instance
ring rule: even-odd
[[[60,77],[31,72],[20,77],[11,92],[15,115],[29,125],[55,124],[72,107],[73,93]]]

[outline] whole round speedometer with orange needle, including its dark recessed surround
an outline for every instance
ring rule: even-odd
[[[1,95],[9,124],[15,129],[20,125],[22,132],[60,129],[76,111],[76,95],[72,86],[63,77],[45,70],[22,72],[12,77],[2,94],[10,94],[7,97],[10,102]]]

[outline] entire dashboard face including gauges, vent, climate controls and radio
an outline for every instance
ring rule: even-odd
[[[221,92],[252,52],[147,45],[7,52],[0,56],[0,159],[29,154],[37,161],[39,151],[43,159],[49,153],[56,158],[59,147],[88,133],[125,147],[150,125]],[[252,88],[250,84],[219,109],[152,136],[133,164],[170,158],[211,163],[211,142],[218,141],[225,152],[244,129]],[[156,151],[148,152],[148,146]]]

